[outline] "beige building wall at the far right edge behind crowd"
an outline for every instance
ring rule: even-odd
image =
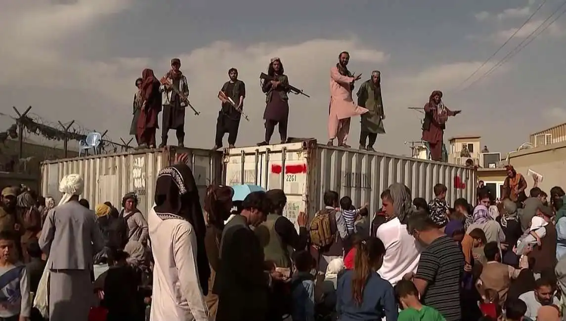
[[[509,164],[525,176],[529,188],[533,185],[529,169],[543,176],[538,186],[547,193],[553,186],[566,187],[566,141],[511,153]]]

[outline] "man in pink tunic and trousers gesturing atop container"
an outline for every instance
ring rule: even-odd
[[[350,132],[351,116],[365,114],[368,110],[358,106],[352,99],[354,81],[361,79],[362,74],[354,76],[348,71],[350,54],[342,51],[339,61],[330,70],[330,107],[328,111],[328,146],[334,145],[338,138],[338,146],[350,148],[346,145]]]

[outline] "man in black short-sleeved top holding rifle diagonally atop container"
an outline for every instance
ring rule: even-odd
[[[234,148],[236,138],[238,137],[238,127],[240,125],[240,118],[242,114],[237,110],[243,110],[244,98],[246,98],[246,85],[243,81],[238,79],[238,70],[230,68],[228,71],[229,81],[222,86],[222,93],[232,99],[237,104],[236,107],[226,100],[218,98],[222,101],[222,109],[218,112],[218,119],[216,120],[216,140],[213,149],[222,148],[222,139],[224,134],[228,133],[229,148]]]

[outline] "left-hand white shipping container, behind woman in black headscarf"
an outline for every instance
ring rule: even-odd
[[[157,173],[174,162],[175,153],[188,154],[188,165],[195,176],[201,204],[204,204],[207,186],[223,181],[222,153],[173,146],[43,162],[41,192],[58,201],[61,198],[59,182],[63,176],[78,173],[84,179],[84,192],[80,197],[88,200],[91,209],[107,201],[121,209],[122,197],[128,192],[135,192],[139,197],[139,210],[147,215],[153,206]]]

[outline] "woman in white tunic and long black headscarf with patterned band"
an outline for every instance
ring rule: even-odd
[[[148,214],[153,266],[152,320],[206,320],[210,267],[206,224],[188,155],[157,176],[155,206]],[[190,308],[189,308],[190,307]]]

